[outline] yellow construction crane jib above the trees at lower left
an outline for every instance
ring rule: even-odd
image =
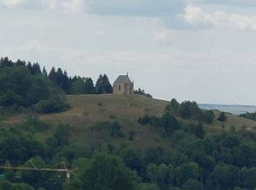
[[[0,166],[0,169],[4,169],[4,170],[31,170],[31,171],[46,171],[46,172],[66,172],[66,178],[69,180],[70,178],[70,174],[72,175],[78,175],[78,167],[75,167],[72,170],[69,170],[67,168],[67,163],[65,163],[64,161],[61,161],[61,163],[56,164],[53,166],[53,168],[38,168],[34,165],[34,163],[29,160],[29,163],[31,164],[31,167],[12,167],[10,165],[7,166]],[[57,168],[54,168],[57,167]]]

